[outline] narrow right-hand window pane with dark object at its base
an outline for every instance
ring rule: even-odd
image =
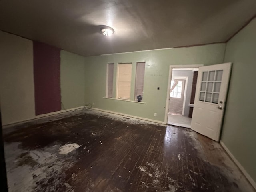
[[[145,62],[138,62],[136,66],[136,81],[135,81],[135,100],[138,101],[138,96],[143,96]],[[143,98],[142,98],[143,99]]]

